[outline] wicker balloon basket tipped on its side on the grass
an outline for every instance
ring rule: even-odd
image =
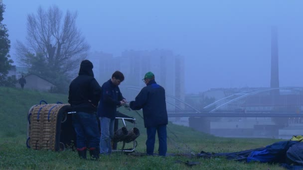
[[[28,129],[26,146],[31,149],[52,151],[73,147],[76,133],[72,126],[69,104],[34,105],[28,112]]]

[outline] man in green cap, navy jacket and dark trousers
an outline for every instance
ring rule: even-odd
[[[147,128],[148,134],[147,155],[153,155],[155,133],[157,132],[159,156],[165,156],[167,151],[166,125],[168,123],[165,90],[156,84],[152,72],[148,72],[143,81],[147,86],[142,88],[135,101],[131,101],[129,104],[133,110],[143,109],[144,126]]]

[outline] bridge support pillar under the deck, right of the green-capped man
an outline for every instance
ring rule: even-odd
[[[189,117],[189,127],[204,133],[210,133],[210,118],[208,117]]]

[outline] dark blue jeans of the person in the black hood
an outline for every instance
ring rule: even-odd
[[[99,148],[100,136],[96,114],[85,112],[74,113],[73,126],[77,135],[77,148]]]

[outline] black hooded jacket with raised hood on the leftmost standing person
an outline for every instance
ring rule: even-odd
[[[69,85],[68,102],[73,111],[94,113],[101,96],[101,87],[94,78],[93,64],[83,60],[79,76]]]

